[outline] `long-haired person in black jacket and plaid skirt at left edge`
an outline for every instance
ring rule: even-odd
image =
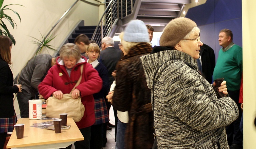
[[[13,93],[22,92],[22,86],[13,86],[10,69],[12,41],[0,36],[0,148],[4,147],[7,132],[12,132],[17,117],[13,106]]]

